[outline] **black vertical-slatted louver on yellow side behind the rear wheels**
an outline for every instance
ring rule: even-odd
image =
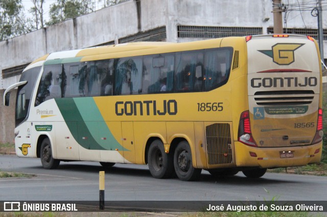
[[[230,164],[232,150],[228,123],[216,123],[205,127],[208,164]]]

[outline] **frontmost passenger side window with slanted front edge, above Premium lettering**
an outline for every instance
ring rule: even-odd
[[[66,90],[66,74],[62,70],[62,65],[46,65],[43,67],[43,74],[37,90],[35,106],[42,102],[61,98]]]

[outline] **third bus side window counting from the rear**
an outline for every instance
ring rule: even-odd
[[[150,55],[143,58],[144,94],[168,92],[173,90],[174,54]]]

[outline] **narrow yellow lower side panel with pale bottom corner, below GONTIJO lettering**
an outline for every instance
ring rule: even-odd
[[[122,135],[124,147],[124,162],[136,163],[133,122],[122,122]]]

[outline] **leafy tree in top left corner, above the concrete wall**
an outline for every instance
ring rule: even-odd
[[[21,0],[0,1],[0,40],[6,40],[31,31],[30,20],[23,14]]]

